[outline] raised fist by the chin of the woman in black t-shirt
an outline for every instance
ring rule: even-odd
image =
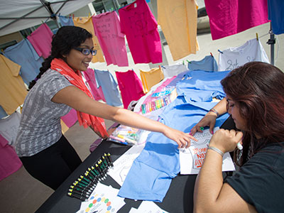
[[[209,146],[219,148],[223,153],[234,151],[236,144],[241,141],[241,131],[219,129],[212,136]]]

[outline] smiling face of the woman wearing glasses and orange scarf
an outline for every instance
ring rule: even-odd
[[[89,50],[94,49],[92,38],[87,38],[78,48],[87,48]],[[63,55],[67,64],[72,68],[72,70],[84,71],[87,70],[89,62],[91,62],[93,56],[91,53],[89,55],[84,55],[79,50],[72,49],[68,55]]]

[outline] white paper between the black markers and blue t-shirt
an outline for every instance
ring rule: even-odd
[[[114,167],[109,169],[108,174],[119,185],[122,185],[124,183],[126,175],[129,173],[133,161],[138,157],[138,155],[140,155],[144,146],[145,143],[132,146],[128,151],[126,151],[126,153],[124,153],[116,161],[114,161]]]

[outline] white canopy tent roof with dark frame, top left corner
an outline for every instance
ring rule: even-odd
[[[0,36],[67,16],[94,0],[0,0]]]

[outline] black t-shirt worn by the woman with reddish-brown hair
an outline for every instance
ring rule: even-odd
[[[224,182],[257,212],[284,212],[284,142],[261,149]]]

